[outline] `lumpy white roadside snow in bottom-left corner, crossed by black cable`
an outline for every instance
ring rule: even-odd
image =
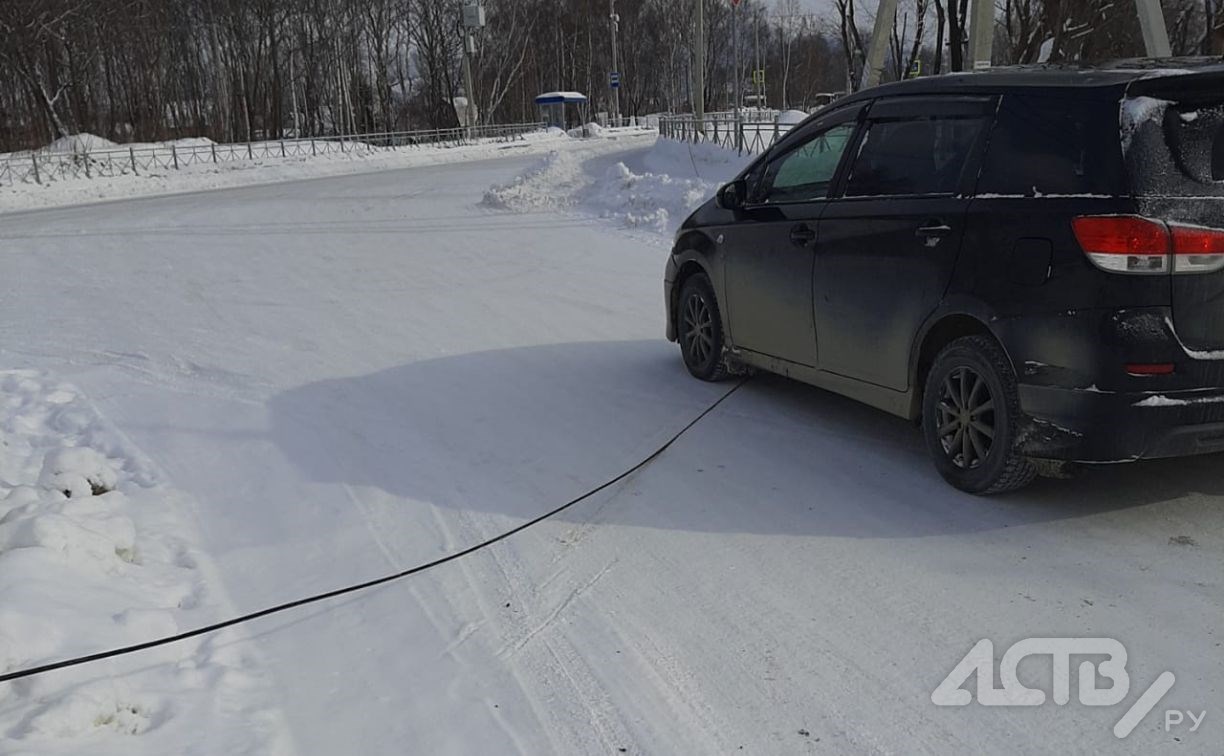
[[[0,672],[233,613],[187,502],[159,477],[72,387],[0,373]],[[184,752],[202,738],[217,752],[280,747],[239,637],[0,684],[0,752]],[[244,734],[244,721],[263,724]]]

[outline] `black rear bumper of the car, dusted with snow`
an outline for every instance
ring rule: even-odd
[[[1020,387],[1023,453],[1116,462],[1224,451],[1224,389],[1106,393]]]

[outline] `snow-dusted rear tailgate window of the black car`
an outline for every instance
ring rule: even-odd
[[[1224,196],[1224,97],[1214,104],[1127,98],[1121,131],[1137,195]]]

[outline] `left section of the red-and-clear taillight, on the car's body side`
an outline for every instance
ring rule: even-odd
[[[1173,242],[1159,220],[1137,215],[1084,215],[1071,221],[1084,254],[1110,273],[1168,273]]]

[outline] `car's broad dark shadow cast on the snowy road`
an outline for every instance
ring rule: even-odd
[[[732,384],[662,341],[553,344],[323,380],[271,402],[311,480],[529,519],[649,455]],[[662,458],[561,515],[706,532],[918,537],[1081,517],[1201,492],[1220,456],[1095,467],[976,498],[939,478],[913,424],[758,376]]]

